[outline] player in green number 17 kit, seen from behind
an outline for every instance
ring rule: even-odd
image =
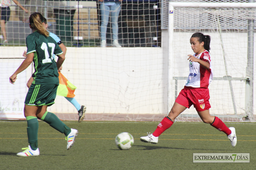
[[[51,112],[47,107],[54,104],[59,85],[58,69],[65,60],[65,55],[59,45],[49,36],[49,32],[43,26],[44,17],[35,12],[29,17],[29,27],[32,33],[26,38],[27,57],[20,67],[10,77],[10,83],[14,84],[17,75],[28,68],[34,62],[34,81],[32,82],[25,99],[24,116],[27,119],[28,148],[17,153],[18,156],[38,156],[40,154],[37,145],[38,120],[48,123],[51,127],[64,133],[68,141],[67,150],[74,145],[78,130],[69,128],[66,124]],[[53,54],[58,57],[57,62]]]

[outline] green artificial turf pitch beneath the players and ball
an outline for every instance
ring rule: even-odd
[[[26,121],[0,121],[0,169],[255,169],[256,123],[226,123],[236,128],[237,145],[232,147],[223,132],[205,123],[175,122],[158,140],[143,143],[141,136],[154,132],[158,122],[64,122],[78,129],[76,142],[66,150],[65,135],[39,122],[40,155],[18,157],[28,147]],[[130,150],[119,150],[115,137],[129,132]],[[193,163],[193,153],[250,153],[250,163]]]

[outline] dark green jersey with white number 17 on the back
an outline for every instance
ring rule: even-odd
[[[35,72],[32,75],[34,78],[32,83],[36,85],[59,85],[59,73],[56,62],[52,57],[53,54],[60,55],[63,53],[59,45],[52,37],[45,37],[37,31],[28,35],[26,44],[28,48],[27,55],[34,53]]]

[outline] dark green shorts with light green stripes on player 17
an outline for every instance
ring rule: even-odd
[[[35,85],[28,89],[25,105],[29,106],[51,106],[56,98],[58,85]]]

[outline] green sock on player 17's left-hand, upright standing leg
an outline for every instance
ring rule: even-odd
[[[37,149],[37,133],[38,133],[38,120],[35,116],[27,116],[27,133],[28,133],[28,143],[32,150]]]

